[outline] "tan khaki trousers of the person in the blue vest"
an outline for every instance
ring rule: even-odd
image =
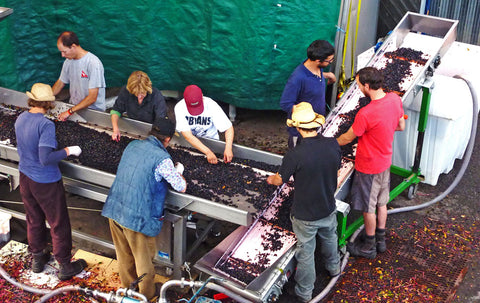
[[[108,222],[115,244],[122,286],[129,287],[138,277],[146,273],[138,284],[139,292],[147,299],[152,299],[155,295],[153,265],[156,252],[155,238],[125,228],[112,219],[108,219]]]

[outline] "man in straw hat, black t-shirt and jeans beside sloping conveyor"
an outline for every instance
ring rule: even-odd
[[[297,237],[295,295],[305,302],[312,299],[316,278],[314,254],[317,234],[322,241],[322,255],[330,276],[340,274],[334,195],[341,150],[335,138],[327,138],[317,132],[324,123],[325,118],[315,113],[310,103],[295,105],[287,125],[295,127],[302,140],[283,157],[280,171],[267,178],[269,184],[277,186],[288,182],[291,176],[294,178],[290,215]]]

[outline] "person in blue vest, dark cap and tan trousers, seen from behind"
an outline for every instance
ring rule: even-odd
[[[162,229],[168,185],[179,192],[187,189],[183,165],[175,166],[166,149],[174,133],[175,124],[160,118],[146,139],[128,144],[102,210],[109,219],[122,286],[145,274],[138,287],[149,300],[156,295],[155,237]]]

